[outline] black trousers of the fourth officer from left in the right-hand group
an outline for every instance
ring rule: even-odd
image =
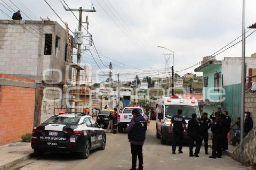
[[[222,143],[223,143],[223,135],[213,134],[213,139],[212,139],[212,155],[213,156],[219,156],[219,157],[222,156],[222,150],[221,150]]]

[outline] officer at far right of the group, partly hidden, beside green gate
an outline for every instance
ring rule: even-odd
[[[223,121],[224,121],[224,130],[223,130],[223,145],[222,145],[222,150],[228,150],[228,133],[230,130],[230,126],[231,126],[231,118],[229,117],[229,112],[228,111],[224,111],[223,112]]]

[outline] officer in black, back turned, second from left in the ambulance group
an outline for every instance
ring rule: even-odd
[[[200,150],[200,147],[201,147],[200,124],[196,120],[196,114],[195,113],[193,113],[191,116],[192,116],[192,119],[189,120],[189,123],[188,123],[188,134],[189,134],[189,138],[190,138],[189,156],[199,157],[198,153],[199,153],[199,150]],[[196,144],[195,154],[193,154],[194,142]]]

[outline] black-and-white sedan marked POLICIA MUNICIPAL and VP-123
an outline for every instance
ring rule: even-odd
[[[105,149],[106,134],[90,116],[61,113],[33,129],[31,147],[34,153],[76,152],[87,159],[91,150]]]

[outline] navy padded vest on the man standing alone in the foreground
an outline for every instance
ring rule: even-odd
[[[135,125],[133,126],[133,130],[128,134],[128,139],[132,141],[144,141],[146,138],[147,121],[141,114],[133,117],[133,120],[135,121]]]

